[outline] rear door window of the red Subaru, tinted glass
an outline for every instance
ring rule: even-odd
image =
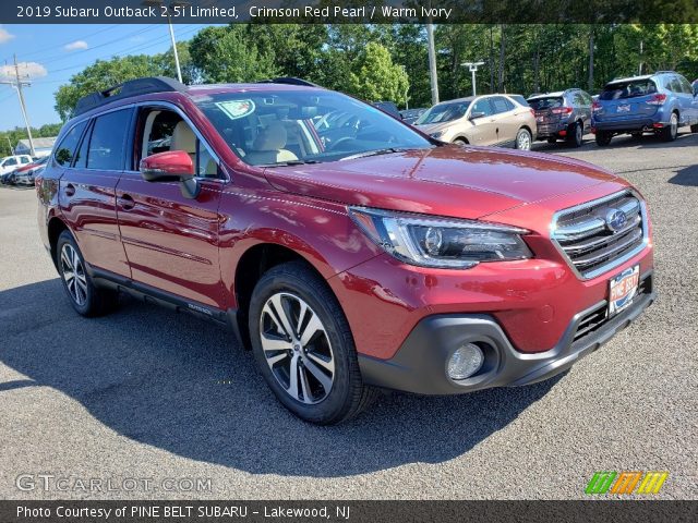
[[[131,109],[97,117],[87,148],[87,169],[120,171],[123,169],[125,137]]]

